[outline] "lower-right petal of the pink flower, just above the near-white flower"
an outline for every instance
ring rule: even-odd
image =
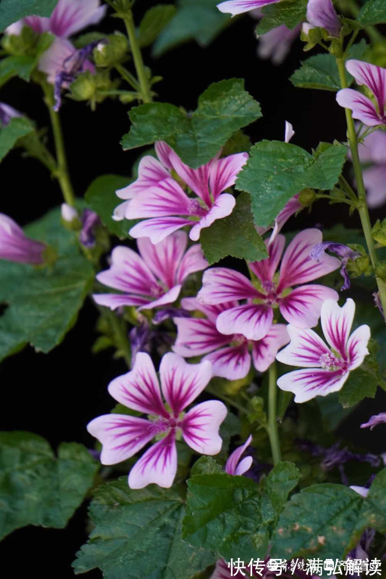
[[[313,328],[318,324],[322,303],[326,299],[338,301],[339,294],[325,285],[302,285],[281,298],[280,312],[289,324],[297,328]]]

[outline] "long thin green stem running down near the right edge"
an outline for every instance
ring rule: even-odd
[[[341,87],[342,89],[347,89],[347,79],[345,76],[344,60],[337,58],[336,63],[339,70]],[[365,184],[363,182],[361,161],[359,160],[359,153],[358,153],[358,139],[356,138],[354,120],[352,119],[351,110],[350,109],[344,110],[347,121],[348,142],[350,143],[351,149],[351,160],[352,165],[354,167],[354,174],[356,180],[356,189],[358,190],[358,200],[359,200],[358,212],[359,217],[361,218],[363,233],[365,234],[367,250],[369,251],[370,260],[375,270],[378,265],[378,257],[374,247],[374,241],[371,233],[372,227],[370,223],[369,208],[367,207],[366,201],[366,189]],[[377,276],[376,281],[378,285],[378,291],[383,311],[386,312],[386,284],[383,280],[381,280],[380,277]]]

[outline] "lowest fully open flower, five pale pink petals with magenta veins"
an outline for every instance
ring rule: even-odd
[[[120,404],[152,418],[107,414],[91,420],[87,430],[102,444],[101,463],[120,463],[162,434],[164,438],[150,446],[135,463],[128,476],[128,485],[131,489],[142,489],[156,483],[170,488],[177,471],[175,437],[178,431],[196,452],[218,454],[222,445],[218,430],[225,419],[226,406],[218,400],[209,400],[181,414],[204,390],[211,377],[210,362],[187,364],[183,358],[169,352],[160,364],[160,389],[149,354],[139,352],[134,368],[113,380],[108,390]],[[170,411],[162,401],[161,390]]]

